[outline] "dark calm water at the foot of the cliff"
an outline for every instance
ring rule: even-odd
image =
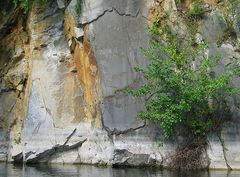
[[[14,166],[0,163],[0,177],[240,177],[240,171],[174,172],[137,168],[98,168],[80,165]]]

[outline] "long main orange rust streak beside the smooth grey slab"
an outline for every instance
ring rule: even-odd
[[[83,46],[76,45],[73,58],[84,90],[85,114],[90,120],[96,119],[99,116],[99,72],[86,32]]]

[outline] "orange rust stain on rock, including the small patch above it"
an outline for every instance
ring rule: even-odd
[[[74,17],[66,11],[65,14],[65,34],[69,40],[75,39],[76,22]],[[87,36],[87,27],[85,27],[83,44],[76,42],[73,49],[73,63],[70,66],[75,66],[77,69],[78,78],[83,89],[84,112],[82,113],[86,120],[91,122],[95,127],[101,127],[101,86],[99,71],[96,58],[92,50],[92,46]]]

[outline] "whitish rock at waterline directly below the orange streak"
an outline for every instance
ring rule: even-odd
[[[81,148],[56,154],[49,162],[111,165],[110,159],[113,156],[114,147],[105,131],[93,129],[89,124],[81,123],[68,144],[72,145],[79,141],[79,137],[87,137],[87,141]]]

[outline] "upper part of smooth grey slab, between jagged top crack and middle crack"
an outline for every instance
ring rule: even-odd
[[[101,72],[104,97],[139,80],[133,67],[146,63],[140,52],[147,44],[146,28],[147,21],[140,15],[121,16],[115,11],[90,25],[90,39]]]

